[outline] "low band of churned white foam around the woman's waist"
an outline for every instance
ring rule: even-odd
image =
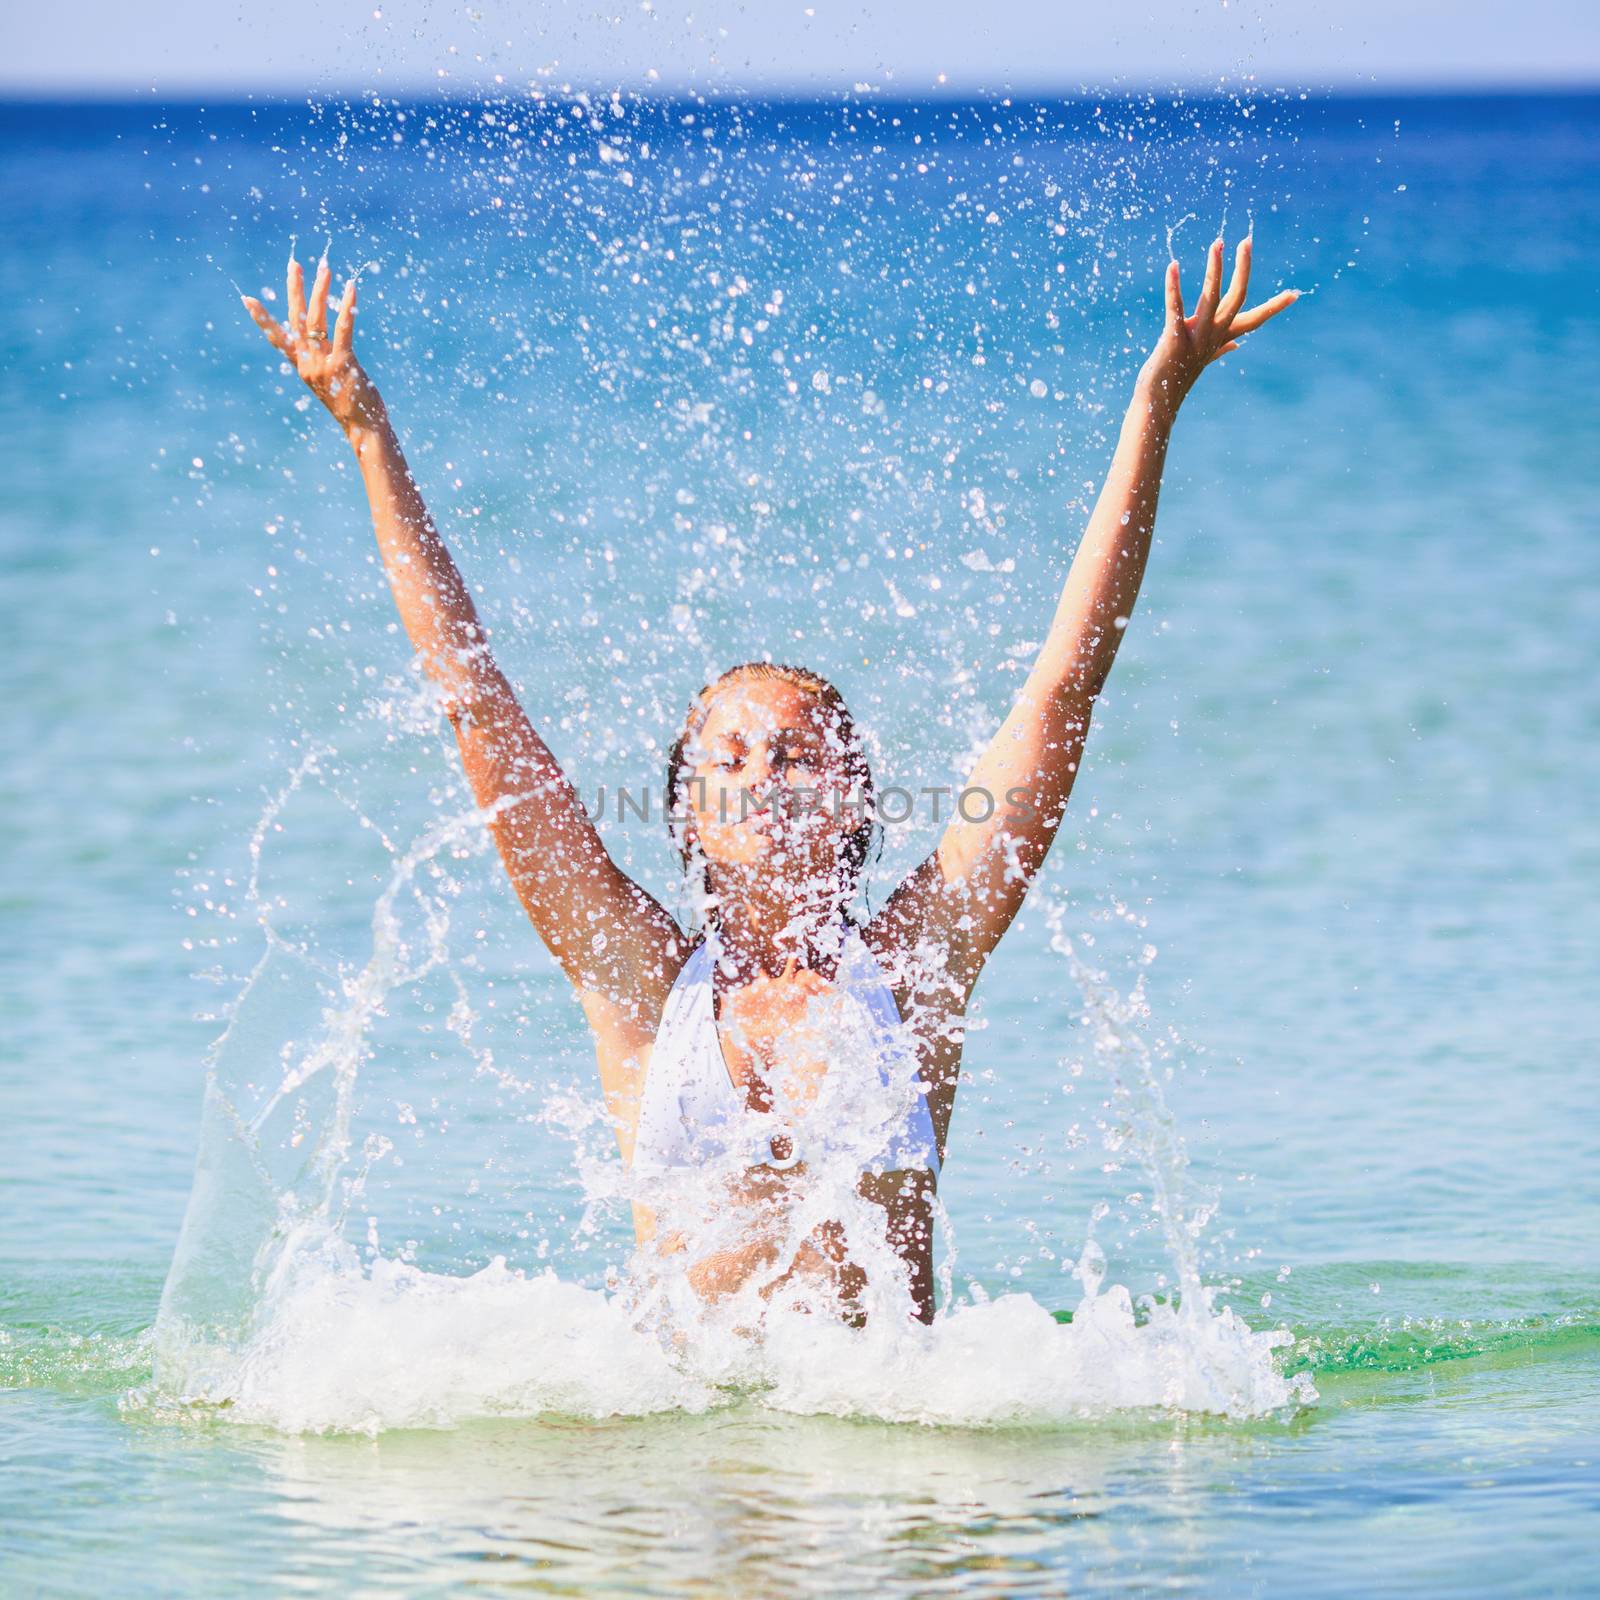
[[[523,1275],[496,1259],[470,1277],[307,1235],[266,1286],[237,1352],[182,1365],[184,1403],[283,1432],[453,1427],[477,1418],[704,1411],[739,1397],[800,1414],[963,1427],[1051,1426],[1160,1408],[1266,1416],[1315,1398],[1278,1374],[1283,1333],[1230,1310],[1086,1296],[1061,1325],[1027,1294],[965,1304],[931,1326],[856,1330],[774,1307],[752,1338],[728,1318],[685,1330],[669,1357],[626,1294]],[[173,1365],[168,1352],[168,1365]]]

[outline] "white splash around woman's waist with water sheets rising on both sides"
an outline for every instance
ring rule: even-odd
[[[1178,1283],[1170,1299],[1136,1306],[1122,1285],[1106,1286],[1106,1259],[1091,1237],[1098,1208],[1078,1254],[1082,1301],[1070,1323],[1027,1294],[957,1301],[944,1219],[944,1309],[931,1326],[912,1322],[883,1213],[854,1182],[918,1093],[909,1050],[888,1090],[875,1069],[830,1067],[816,1114],[846,1131],[818,1152],[814,1179],[776,1240],[779,1256],[792,1254],[821,1222],[838,1224],[850,1258],[867,1270],[864,1326],[797,1314],[819,1309],[814,1283],[762,1294],[752,1280],[709,1302],[654,1250],[613,1267],[603,1288],[552,1270],[528,1275],[504,1258],[475,1274],[429,1272],[386,1254],[371,1222],[363,1259],[347,1232],[370,1171],[389,1155],[386,1139],[357,1142],[352,1131],[373,1024],[398,992],[443,974],[456,994],[451,1030],[474,1053],[448,896],[429,893],[419,869],[445,850],[480,851],[485,829],[483,814],[469,810],[442,818],[408,848],[390,845],[370,954],[330,968],[274,930],[261,885],[262,842],[302,786],[325,776],[325,760],[314,750],[299,763],[253,838],[250,904],[266,952],[210,1062],[195,1187],[155,1326],[154,1379],[131,1403],[198,1405],[286,1430],[378,1432],[482,1416],[699,1411],[738,1400],[898,1422],[1054,1426],[1128,1408],[1262,1416],[1315,1397],[1304,1371],[1285,1378],[1278,1370],[1275,1352],[1291,1336],[1254,1331],[1218,1310],[1202,1283],[1195,1240],[1208,1208],[1187,1197],[1182,1139],[1144,1038],[1142,982],[1122,995],[1088,966],[1056,904],[1046,917],[1066,962],[1062,982],[1083,992],[1091,1059],[1120,1109],[1107,1138],[1149,1174]],[[875,1061],[882,1050],[848,1005],[818,1026],[830,1061]],[[488,1051],[475,1059],[482,1072],[504,1077]],[[259,1083],[254,1099],[242,1091],[251,1083]],[[696,1259],[738,1245],[726,1205],[734,1157],[662,1189],[605,1152],[610,1123],[595,1101],[549,1091],[541,1115],[594,1141],[582,1146],[579,1229],[592,1232],[595,1213],[646,1200],[669,1226],[699,1230]]]

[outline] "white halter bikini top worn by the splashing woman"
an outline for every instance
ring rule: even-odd
[[[787,1168],[798,1162],[826,1154],[827,1146],[843,1146],[846,1138],[829,1138],[808,1131],[795,1134],[771,1115],[752,1112],[746,1096],[728,1075],[728,1064],[717,1037],[715,1013],[715,960],[718,944],[715,931],[690,955],[667,995],[661,1014],[661,1029],[650,1056],[645,1075],[645,1093],[638,1107],[638,1128],[634,1138],[635,1173],[669,1173],[698,1168],[731,1152],[750,1166]],[[877,957],[867,949],[856,928],[845,928],[835,989],[862,1008],[867,1051],[877,1066],[877,1078],[885,1091],[912,1101],[904,1115],[888,1128],[888,1138],[877,1144],[875,1152],[861,1160],[862,1171],[906,1171],[923,1168],[938,1174],[939,1147],[933,1136],[933,1117],[928,1112],[928,1096],[915,1083],[915,1067],[906,1056],[909,1048],[901,1026],[894,992],[878,966]],[[851,1051],[851,1054],[862,1054]],[[829,1062],[832,1070],[848,1070],[850,1062]],[[773,1154],[773,1139],[782,1138],[789,1146],[782,1160]],[[814,1147],[821,1138],[824,1150]],[[806,1141],[813,1149],[806,1149]]]

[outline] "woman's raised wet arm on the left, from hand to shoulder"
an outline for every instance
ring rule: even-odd
[[[677,923],[611,859],[555,757],[517,704],[472,595],[411,477],[376,386],[355,358],[355,278],[328,338],[328,262],[288,267],[288,322],[245,309],[344,429],[411,646],[440,686],[461,758],[501,861],[590,1021],[614,1008],[653,1024],[686,954]],[[598,1008],[598,1014],[597,1014]],[[643,1011],[643,1014],[640,1014]]]

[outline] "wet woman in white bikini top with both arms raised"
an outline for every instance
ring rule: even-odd
[[[1224,293],[1222,240],[1211,245],[1192,317],[1178,262],[1168,266],[1166,323],[1050,635],[968,779],[976,798],[866,926],[848,907],[872,834],[872,779],[838,691],[800,669],[747,664],[696,696],[667,782],[685,866],[701,878],[701,939],[611,861],[496,666],[355,358],[355,278],[331,339],[326,261],[307,302],[291,256],[283,325],[245,298],[355,451],[406,634],[442,691],[512,885],[594,1029],[637,1179],[638,1240],[661,1259],[682,1251],[704,1301],[800,1283],[861,1315],[870,1262],[899,1277],[912,1315],[931,1318],[933,1198],[966,1005],[1061,824],[1139,592],[1173,421],[1211,362],[1296,299],[1290,290],[1245,310],[1250,253],[1245,238]],[[851,1082],[888,1093],[851,1096]],[[734,1226],[702,1235],[685,1221],[693,1208],[661,1226],[664,1178],[706,1171]],[[821,1198],[806,1182],[818,1173],[835,1182]],[[877,1219],[877,1248],[862,1214]]]

